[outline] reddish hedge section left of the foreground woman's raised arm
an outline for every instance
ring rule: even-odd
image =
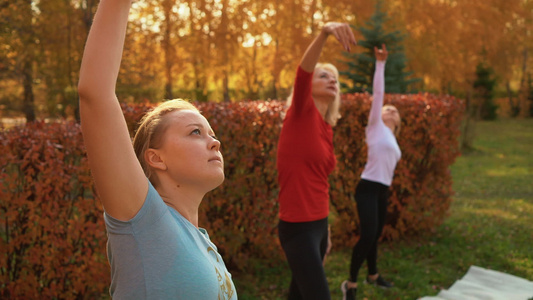
[[[0,132],[0,153],[0,298],[98,298],[107,237],[79,126]]]

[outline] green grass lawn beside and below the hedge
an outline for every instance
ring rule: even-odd
[[[533,280],[533,120],[480,122],[474,150],[452,166],[454,201],[442,226],[423,236],[382,243],[380,273],[395,283],[365,286],[358,299],[417,299],[437,295],[471,265]],[[333,249],[326,273],[332,299],[348,276],[351,249]],[[286,299],[287,263],[234,274],[239,299]]]

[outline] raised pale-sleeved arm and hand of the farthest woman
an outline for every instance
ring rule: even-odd
[[[381,120],[381,108],[383,107],[383,97],[385,94],[385,62],[387,61],[387,48],[383,44],[383,49],[374,47],[376,55],[376,70],[374,72],[374,82],[372,89],[372,107],[368,116],[368,125],[374,124]]]

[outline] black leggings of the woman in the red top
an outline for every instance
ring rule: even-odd
[[[278,232],[292,271],[288,299],[331,299],[322,264],[328,246],[328,218],[301,223],[280,220]]]

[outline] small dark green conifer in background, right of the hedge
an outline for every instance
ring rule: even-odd
[[[477,97],[481,100],[478,105],[479,117],[482,120],[496,119],[496,110],[498,106],[494,103],[494,87],[496,86],[496,79],[494,78],[494,70],[479,63],[476,66],[476,81],[474,81],[474,89]]]

